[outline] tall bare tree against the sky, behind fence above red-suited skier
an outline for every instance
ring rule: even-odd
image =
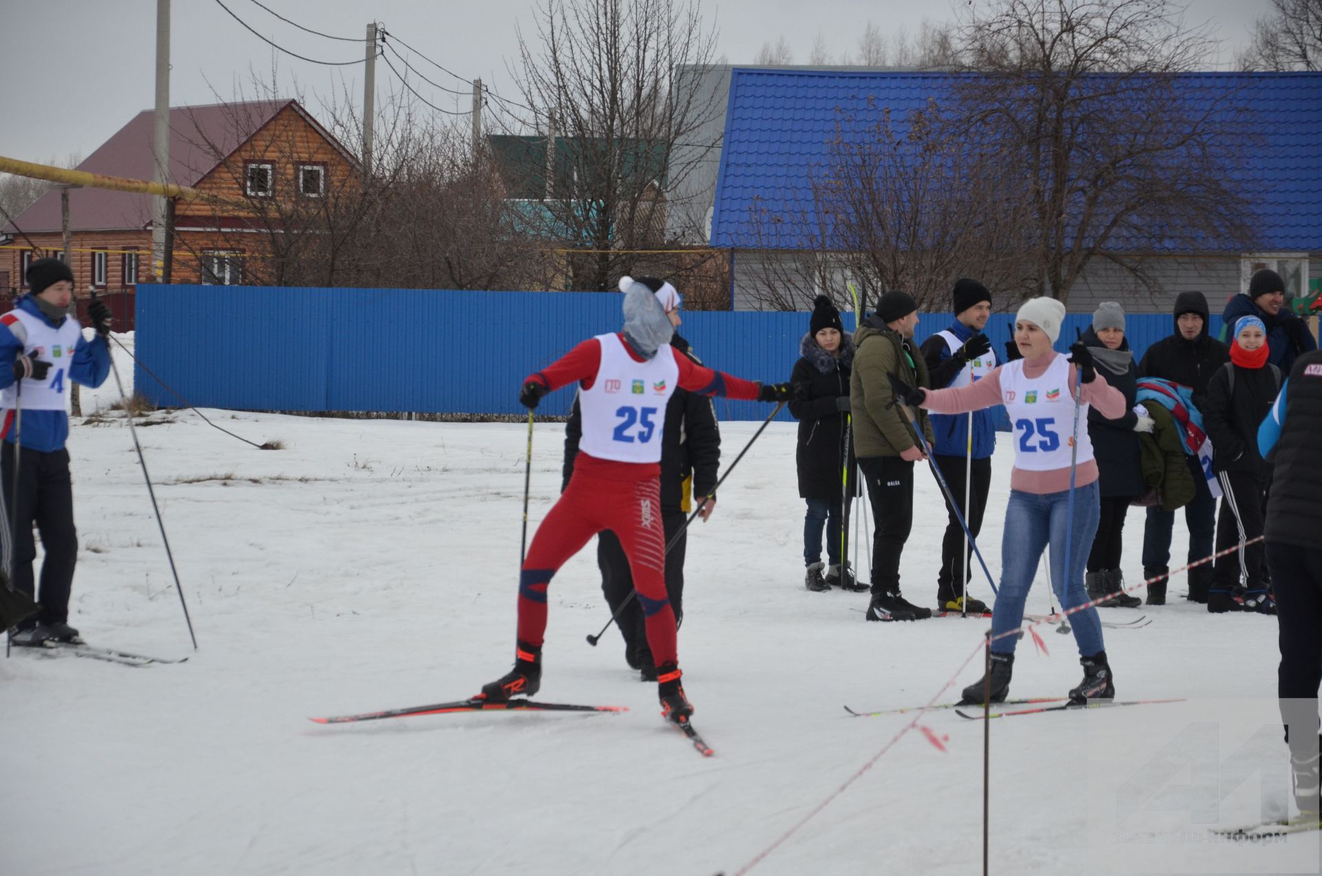
[[[715,30],[690,0],[543,0],[535,29],[535,45],[520,29],[514,77],[558,136],[542,234],[576,250],[571,288],[612,290],[665,245],[665,193],[695,164],[674,147],[717,111],[683,77],[711,64]]]

